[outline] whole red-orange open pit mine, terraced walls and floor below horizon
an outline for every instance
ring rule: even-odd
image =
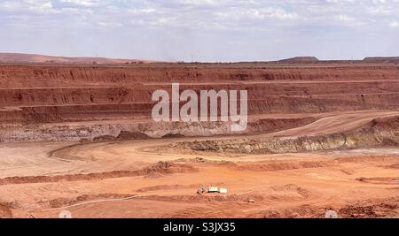
[[[247,126],[152,95],[246,90]],[[399,65],[0,65],[0,217],[399,217]]]

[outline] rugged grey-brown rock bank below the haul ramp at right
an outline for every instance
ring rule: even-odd
[[[174,144],[195,151],[239,153],[296,153],[348,148],[378,148],[399,146],[399,117],[378,118],[367,126],[345,133],[273,139],[238,139],[231,141],[193,141]]]

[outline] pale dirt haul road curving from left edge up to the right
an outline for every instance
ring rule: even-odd
[[[328,133],[340,133],[366,125],[373,118],[399,116],[398,110],[363,110],[342,112],[339,114],[313,114],[317,121],[276,133],[243,134],[235,137],[184,137],[174,139],[153,139],[134,141],[111,141],[89,144],[43,143],[36,144],[3,144],[0,146],[2,167],[0,178],[11,176],[59,175],[73,173],[90,173],[98,171],[132,170],[143,168],[159,161],[195,157],[187,153],[162,151],[160,146],[181,141],[232,140],[243,138],[269,138],[276,136],[303,136]],[[260,118],[257,116],[256,118]],[[270,116],[268,116],[270,118]],[[54,151],[55,150],[55,151]],[[49,153],[53,154],[49,156]],[[29,153],[29,158],[27,158]],[[207,156],[213,160],[259,161],[270,156]]]

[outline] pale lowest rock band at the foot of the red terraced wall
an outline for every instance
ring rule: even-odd
[[[286,128],[304,126],[315,118],[259,119],[248,124],[244,133],[271,133]],[[113,141],[176,138],[182,136],[212,136],[230,133],[224,122],[113,122],[75,124],[37,124],[0,126],[0,142],[26,141]]]

